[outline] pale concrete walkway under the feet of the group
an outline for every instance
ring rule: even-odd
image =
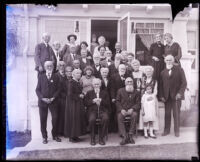
[[[135,145],[162,145],[162,144],[179,144],[179,143],[198,143],[198,131],[196,127],[182,127],[180,129],[180,137],[175,137],[174,132],[168,136],[161,136],[161,131],[157,133],[157,139],[145,139],[143,136],[138,135],[135,139],[136,144],[128,144],[128,147],[134,147]],[[97,138],[97,137],[96,137]],[[33,151],[33,150],[53,150],[53,149],[70,149],[70,148],[91,148],[91,147],[110,147],[119,146],[121,138],[118,134],[109,134],[108,141],[105,146],[96,144],[91,146],[89,144],[89,135],[82,136],[83,140],[80,143],[70,143],[68,138],[62,138],[62,142],[58,143],[49,138],[48,144],[42,144],[41,139],[31,140],[25,147],[16,147],[12,150],[7,150],[7,160],[16,158],[22,151]]]

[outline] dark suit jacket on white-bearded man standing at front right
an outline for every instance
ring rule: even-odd
[[[160,78],[160,97],[168,99],[169,95],[172,99],[176,98],[177,93],[180,93],[184,99],[184,92],[187,86],[185,73],[180,66],[173,66],[171,76],[167,69],[161,72]]]

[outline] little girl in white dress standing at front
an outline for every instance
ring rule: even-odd
[[[156,98],[156,95],[153,94],[152,86],[147,85],[145,89],[145,93],[142,96],[142,119],[144,123],[144,137],[148,138],[147,134],[147,127],[149,124],[149,132],[151,138],[156,138],[156,136],[153,133],[153,122],[157,118],[157,112],[158,112],[158,101]]]

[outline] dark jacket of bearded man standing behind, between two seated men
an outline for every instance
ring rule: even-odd
[[[117,96],[117,91],[120,88],[125,87],[125,79],[127,78],[127,75],[124,75],[124,80],[121,80],[121,77],[119,75],[119,73],[116,73],[114,75],[112,75],[111,77],[111,90],[110,90],[110,95],[111,95],[111,99],[116,99]]]

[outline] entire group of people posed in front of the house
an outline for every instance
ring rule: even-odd
[[[92,37],[91,49],[87,42],[76,43],[77,36],[67,37],[62,49],[58,41],[49,45],[50,35],[44,33],[42,43],[35,48],[38,71],[36,94],[40,114],[43,143],[48,143],[47,114],[52,115],[53,140],[60,136],[70,142],[80,142],[80,136],[90,133],[91,145],[96,144],[97,121],[99,144],[105,145],[109,132],[118,132],[120,145],[134,144],[134,131],[144,130],[144,137],[156,138],[159,128],[158,100],[165,103],[163,136],[170,133],[171,111],[175,136],[179,137],[181,100],[187,85],[180,65],[181,48],[170,33],[156,34],[150,47],[150,64],[140,69],[137,57],[121,49],[109,50],[104,36]],[[130,126],[126,128],[125,118]],[[149,131],[148,131],[149,130]]]

